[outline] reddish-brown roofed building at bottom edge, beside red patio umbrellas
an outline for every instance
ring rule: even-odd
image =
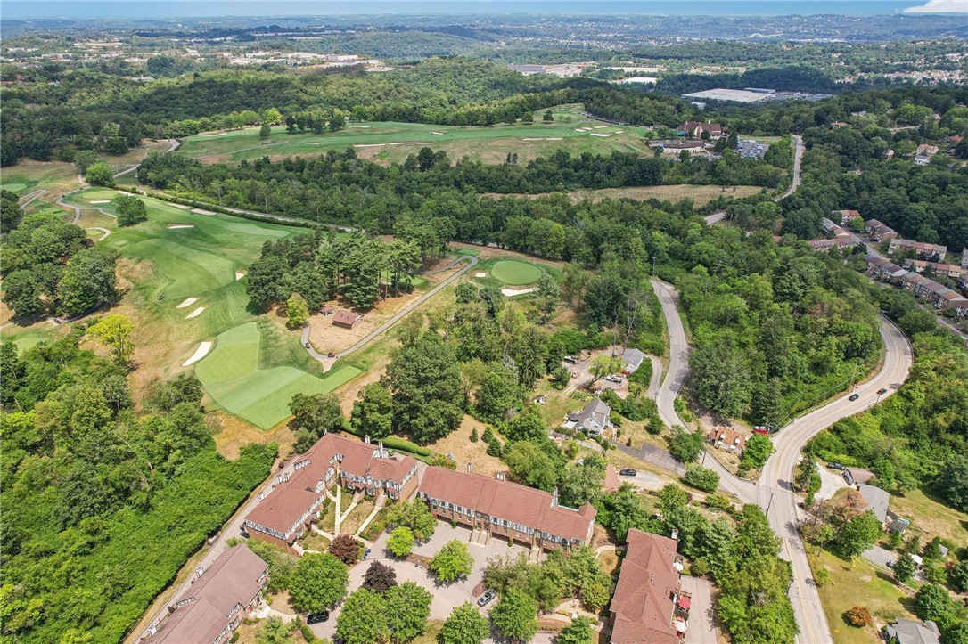
[[[676,618],[679,542],[631,529],[619,582],[609,605],[611,644],[678,644],[685,622]],[[688,605],[688,604],[686,604]]]

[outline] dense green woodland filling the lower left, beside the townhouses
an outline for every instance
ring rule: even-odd
[[[137,413],[129,366],[80,349],[84,333],[22,356],[0,344],[0,619],[16,641],[122,639],[276,454],[216,454],[191,375]]]

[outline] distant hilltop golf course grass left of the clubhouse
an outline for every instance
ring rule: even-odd
[[[517,154],[518,162],[526,162],[561,149],[574,155],[648,152],[641,140],[645,135],[641,128],[606,125],[581,116],[580,111],[578,105],[560,105],[553,108],[554,123],[539,120],[531,125],[514,126],[456,128],[372,122],[350,123],[345,130],[322,134],[288,134],[285,127],[279,127],[273,129],[268,139],[260,138],[258,129],[252,128],[190,136],[185,139],[181,152],[203,162],[233,162],[262,156],[307,157],[354,146],[357,156],[386,163],[404,161],[424,146],[445,151],[453,161],[470,157],[489,163],[504,161],[508,153]],[[540,116],[538,113],[539,119]],[[566,119],[571,121],[565,122]],[[578,132],[580,129],[582,132]]]

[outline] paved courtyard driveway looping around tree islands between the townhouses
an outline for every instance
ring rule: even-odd
[[[429,571],[424,568],[417,566],[416,564],[409,564],[405,561],[400,561],[387,557],[389,554],[386,551],[386,541],[389,539],[389,535],[383,533],[379,536],[378,540],[374,542],[371,548],[370,557],[365,561],[353,566],[349,569],[349,581],[347,587],[347,594],[358,590],[363,584],[363,575],[366,573],[367,569],[370,568],[370,563],[373,561],[379,561],[387,566],[393,568],[397,572],[397,583],[402,584],[407,581],[412,581],[423,588],[426,588],[434,596],[434,600],[430,605],[430,617],[435,620],[446,620],[450,617],[450,613],[457,606],[461,605],[465,601],[470,601],[471,603],[476,603],[477,596],[473,594],[474,587],[481,583],[484,579],[484,569],[487,567],[487,560],[491,557],[497,557],[502,555],[510,555],[516,557],[521,553],[528,554],[529,549],[521,545],[513,545],[508,547],[507,542],[501,539],[492,539],[486,544],[472,543],[470,541],[470,530],[465,527],[452,528],[449,523],[443,521],[438,521],[437,530],[434,532],[434,536],[429,542],[421,543],[413,548],[413,553],[418,555],[423,555],[425,557],[434,556],[440,548],[446,542],[452,540],[459,540],[461,542],[468,543],[468,549],[470,556],[474,559],[473,570],[467,579],[462,579],[455,581],[452,584],[441,585],[438,584],[437,579],[429,573]],[[487,614],[492,606],[497,602],[497,600],[489,603],[485,608],[481,610],[483,614]],[[332,638],[336,633],[336,619],[340,615],[342,610],[342,605],[337,606],[335,609],[330,611],[329,621],[323,622],[322,624],[314,624],[311,629],[316,633],[317,637],[329,637]],[[485,640],[486,642],[491,642],[492,640]],[[532,642],[541,641],[539,638],[535,638]],[[550,639],[548,640],[550,641]]]

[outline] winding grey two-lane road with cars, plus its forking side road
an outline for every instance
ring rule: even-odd
[[[669,375],[659,389],[656,405],[664,423],[687,426],[675,407],[676,395],[688,376],[689,355],[685,330],[676,307],[676,291],[672,286],[658,280],[652,280],[652,288],[662,305],[670,338]],[[882,321],[880,333],[885,347],[884,364],[876,375],[852,390],[852,393],[861,397],[851,401],[845,393],[786,425],[773,438],[776,451],[764,466],[759,482],[742,480],[716,458],[706,459],[707,465],[719,474],[720,487],[735,494],[742,503],[755,503],[762,508],[770,519],[773,532],[782,540],[781,554],[790,561],[793,570],[790,601],[801,629],[800,641],[804,644],[829,643],[832,642],[832,637],[798,530],[800,501],[791,484],[793,472],[808,440],[836,421],[862,412],[881,398],[892,395],[907,379],[914,362],[911,344],[890,320],[882,318]],[[877,395],[881,389],[888,391],[885,395]]]

